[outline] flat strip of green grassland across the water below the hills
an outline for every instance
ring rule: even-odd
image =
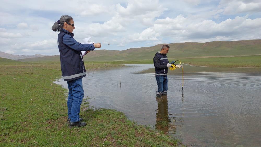
[[[254,67],[261,68],[261,55],[249,55],[249,56],[231,56],[231,57],[199,57],[199,58],[172,58],[167,54],[169,61],[180,60],[182,63],[195,65],[195,66],[214,66],[214,67]],[[153,57],[151,59],[144,60],[107,60],[107,61],[91,61],[85,59],[84,62],[88,64],[153,64]],[[28,58],[27,60],[22,59],[19,61],[29,62],[29,63],[59,63],[60,58],[44,58],[39,57],[31,61]],[[49,60],[51,59],[51,60]],[[1,60],[0,60],[1,61]],[[17,61],[14,61],[17,62]],[[18,63],[18,62],[17,62]],[[21,62],[19,62],[21,63]]]

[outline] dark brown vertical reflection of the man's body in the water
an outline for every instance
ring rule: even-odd
[[[168,117],[168,99],[167,96],[164,96],[162,98],[157,97],[156,98],[158,102],[158,109],[156,114],[156,128],[158,130],[164,131],[164,133],[168,132],[168,126],[169,126],[169,117]]]

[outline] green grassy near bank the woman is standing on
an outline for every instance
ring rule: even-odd
[[[89,70],[119,66],[86,63]],[[140,126],[116,110],[82,107],[82,128],[68,129],[67,90],[53,83],[60,63],[0,64],[0,146],[177,146],[180,140]]]

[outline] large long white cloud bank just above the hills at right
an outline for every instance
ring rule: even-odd
[[[244,33],[242,33],[244,32]],[[141,33],[129,36],[130,42],[151,40],[157,41],[158,37],[179,38],[180,42],[193,40],[203,42],[205,40],[232,40],[247,36],[255,36],[257,39],[261,33],[261,18],[248,19],[247,16],[236,16],[220,23],[212,20],[197,21],[181,15],[174,19],[167,17],[155,21],[153,27],[147,28]]]

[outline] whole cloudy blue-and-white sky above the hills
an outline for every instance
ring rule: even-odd
[[[261,39],[260,0],[0,0],[0,51],[59,55],[52,25],[74,19],[74,38],[101,49]],[[110,45],[108,45],[110,43]]]

